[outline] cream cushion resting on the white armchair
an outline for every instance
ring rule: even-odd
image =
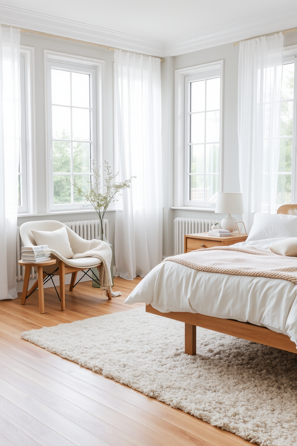
[[[65,259],[72,259],[74,256],[65,226],[56,231],[35,231],[32,229],[31,232],[37,245],[49,245],[49,249],[57,251]]]

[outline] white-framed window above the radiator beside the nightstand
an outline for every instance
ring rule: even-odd
[[[216,206],[221,190],[222,77],[223,61],[175,70],[175,206]]]

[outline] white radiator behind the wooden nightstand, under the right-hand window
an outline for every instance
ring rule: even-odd
[[[174,220],[174,253],[183,254],[184,252],[184,236],[185,234],[199,234],[199,232],[207,232],[212,225],[220,220],[203,220],[203,219],[183,219],[177,217]]]

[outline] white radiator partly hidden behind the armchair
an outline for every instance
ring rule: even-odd
[[[85,240],[97,239],[101,235],[101,224],[100,220],[77,220],[72,222],[62,222],[65,223],[70,229],[72,229],[76,234]],[[108,231],[108,220],[103,220],[103,232],[108,241],[109,231]],[[18,261],[20,260],[20,247],[24,246],[20,238],[20,227],[17,227],[16,233],[16,280],[24,280],[24,266],[20,266]],[[31,270],[30,279],[37,279],[37,273],[34,269]]]

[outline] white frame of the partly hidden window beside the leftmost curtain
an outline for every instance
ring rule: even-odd
[[[37,212],[34,48],[20,45],[20,194],[18,215]]]

